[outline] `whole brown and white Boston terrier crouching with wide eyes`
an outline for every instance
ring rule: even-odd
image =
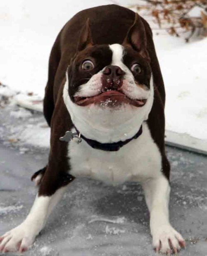
[[[140,182],[154,249],[176,253],[185,246],[168,218],[164,104],[152,31],[142,17],[105,5],[67,22],[49,60],[44,98],[51,126],[48,164],[32,176],[39,184],[34,205],[22,224],[0,238],[1,251],[28,249],[67,184],[80,175],[107,184]],[[71,136],[70,143],[60,140]]]

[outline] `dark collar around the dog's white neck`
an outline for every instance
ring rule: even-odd
[[[76,127],[75,127],[75,130],[77,131],[77,133],[79,133]],[[125,141],[118,141],[113,143],[101,143],[96,140],[90,140],[84,137],[82,134],[80,135],[80,138],[85,140],[91,147],[95,149],[104,150],[104,151],[118,151],[120,147],[123,147],[133,139],[137,139],[141,134],[142,134],[142,126],[140,127],[140,130],[138,130],[138,132],[132,138],[127,139]]]

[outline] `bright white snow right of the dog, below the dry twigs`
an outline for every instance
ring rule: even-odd
[[[204,140],[207,140],[206,46],[207,38],[171,51],[157,47],[166,85],[166,129]]]

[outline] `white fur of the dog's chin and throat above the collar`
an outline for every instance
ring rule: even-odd
[[[132,138],[147,120],[152,108],[154,90],[150,82],[150,99],[142,108],[132,109],[123,105],[117,109],[101,108],[99,106],[77,106],[68,94],[68,77],[63,89],[63,99],[70,113],[73,124],[86,138],[101,143],[113,143]]]

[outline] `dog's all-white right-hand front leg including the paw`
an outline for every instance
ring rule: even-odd
[[[185,246],[185,240],[169,222],[168,201],[170,186],[168,180],[161,174],[142,184],[146,203],[150,212],[150,231],[153,247],[156,252],[176,253]]]

